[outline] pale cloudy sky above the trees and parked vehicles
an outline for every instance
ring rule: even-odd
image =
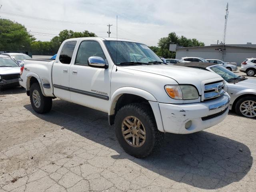
[[[225,0],[0,0],[0,18],[23,24],[37,40],[88,30],[157,46],[176,32],[206,45],[223,41]],[[229,0],[226,44],[256,44],[256,1]],[[118,16],[116,24],[116,16]]]

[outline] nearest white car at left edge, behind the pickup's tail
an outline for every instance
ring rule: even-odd
[[[20,66],[8,56],[0,55],[0,90],[20,86]]]

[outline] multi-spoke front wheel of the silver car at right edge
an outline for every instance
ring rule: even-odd
[[[256,117],[256,97],[246,96],[236,102],[236,113],[240,116],[254,118]]]

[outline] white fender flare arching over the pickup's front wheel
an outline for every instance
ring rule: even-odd
[[[123,94],[133,94],[140,96],[148,101],[155,101],[157,102],[157,99],[149,92],[135,88],[135,87],[121,87],[115,90],[115,92],[112,94],[110,99],[110,107],[108,108],[108,115],[113,115],[115,113],[115,106],[116,102],[122,96]]]

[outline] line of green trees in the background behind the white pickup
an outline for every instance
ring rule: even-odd
[[[50,41],[40,41],[29,34],[22,24],[8,19],[0,19],[0,51],[28,51],[31,55],[54,55],[64,40],[79,37],[96,37],[96,34],[87,30],[83,32],[62,30]],[[150,46],[150,48],[158,56],[175,58],[175,52],[169,51],[170,43],[183,47],[204,46],[204,43],[196,38],[189,39],[171,32],[167,37],[159,39],[158,46]]]

